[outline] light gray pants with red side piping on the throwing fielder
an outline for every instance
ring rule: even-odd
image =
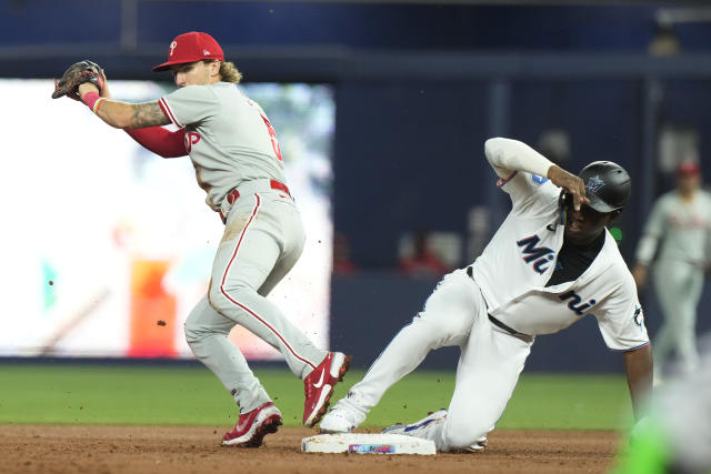
[[[242,192],[227,212],[208,295],[186,321],[196,356],[234,396],[241,413],[270,397],[228,339],[236,324],[279,350],[294,375],[306,377],[328,355],[294,326],[267,295],[297,263],[306,235],[293,200],[278,190]]]

